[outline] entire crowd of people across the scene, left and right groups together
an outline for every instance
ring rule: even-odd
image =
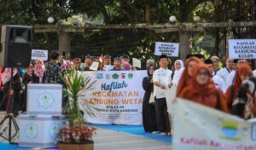
[[[188,99],[213,107],[225,113],[232,113],[241,118],[256,116],[255,78],[256,70],[247,60],[226,59],[220,67],[218,56],[205,60],[202,55],[188,55],[185,62],[174,61],[169,69],[170,59],[160,55],[158,62],[146,61],[148,77],[143,78],[143,126],[146,132],[172,135],[172,120],[167,112],[166,89],[175,88],[176,97]],[[113,61],[113,62],[112,62]],[[98,66],[92,69],[93,63]],[[50,53],[49,61],[32,61],[25,68],[11,69],[0,66],[0,109],[11,111],[15,115],[26,112],[27,84],[63,84],[61,74],[71,69],[77,71],[129,71],[136,70],[131,66],[128,55],[112,58],[111,55],[84,59],[65,59],[58,51]],[[247,81],[249,79],[249,81]],[[12,80],[13,107],[10,107],[9,86]],[[247,81],[246,86],[243,84]],[[254,89],[250,86],[253,86]],[[248,96],[251,95],[251,96]],[[172,116],[172,115],[171,115]]]

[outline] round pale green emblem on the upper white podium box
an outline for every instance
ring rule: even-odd
[[[53,95],[49,94],[48,92],[44,92],[38,95],[38,107],[43,107],[47,109],[49,107],[53,107],[53,103],[55,99]]]

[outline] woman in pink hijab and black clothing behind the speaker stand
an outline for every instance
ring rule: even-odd
[[[12,110],[10,110],[10,99],[12,98],[9,96],[9,85],[10,85],[10,80],[11,80],[11,68],[5,68],[4,72],[1,75],[2,82],[3,82],[3,95],[7,95],[5,99],[3,100],[3,105],[7,109],[7,111],[11,111],[12,113],[15,114],[15,116],[18,115],[19,107],[20,107],[20,90],[22,89],[21,87],[21,78],[20,78],[20,73],[16,68],[13,69],[13,79],[12,79],[12,89],[14,90],[13,93],[13,106]],[[5,105],[6,104],[6,105]]]

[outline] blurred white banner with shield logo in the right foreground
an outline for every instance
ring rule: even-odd
[[[256,149],[256,121],[247,122],[228,113],[177,99],[174,106],[173,149]]]

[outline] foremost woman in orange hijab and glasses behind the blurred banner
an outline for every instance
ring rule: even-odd
[[[213,83],[208,66],[202,63],[193,69],[191,84],[183,89],[180,97],[228,112],[224,94]]]

